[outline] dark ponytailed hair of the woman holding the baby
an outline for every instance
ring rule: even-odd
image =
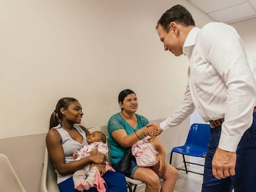
[[[61,98],[56,104],[54,112],[51,114],[49,130],[53,127],[56,127],[62,120],[61,108],[65,110],[69,107],[71,102],[77,101],[75,98]]]

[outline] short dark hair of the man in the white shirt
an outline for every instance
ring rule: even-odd
[[[158,25],[161,25],[168,33],[170,30],[169,24],[171,22],[179,23],[185,27],[190,25],[195,26],[195,21],[192,15],[185,7],[181,5],[176,5],[166,10],[166,12],[164,12],[164,14],[158,20],[156,30],[158,29]]]

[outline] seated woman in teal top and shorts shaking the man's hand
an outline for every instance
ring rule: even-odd
[[[145,135],[153,136],[149,141],[158,149],[158,165],[138,167],[136,161],[132,161],[132,170],[127,176],[145,183],[146,192],[160,191],[159,177],[164,180],[161,192],[174,191],[177,170],[165,161],[163,145],[158,137],[154,136],[157,130],[154,127],[147,127],[148,120],[135,113],[138,109],[136,94],[132,90],[123,90],[119,93],[118,101],[121,112],[114,114],[108,122],[108,143],[112,166],[114,169],[119,167],[127,148],[144,138]]]

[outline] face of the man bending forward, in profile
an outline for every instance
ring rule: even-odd
[[[169,32],[166,32],[160,24],[157,31],[160,41],[164,44],[165,51],[172,52],[174,56],[181,56],[183,54],[182,45],[179,41],[179,31],[170,29]]]

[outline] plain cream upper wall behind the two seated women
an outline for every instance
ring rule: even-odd
[[[79,99],[85,126],[106,125],[125,88],[140,114],[167,117],[183,98],[187,58],[163,51],[155,25],[177,3],[198,25],[210,20],[187,1],[2,0],[0,138],[45,133],[64,96]]]

